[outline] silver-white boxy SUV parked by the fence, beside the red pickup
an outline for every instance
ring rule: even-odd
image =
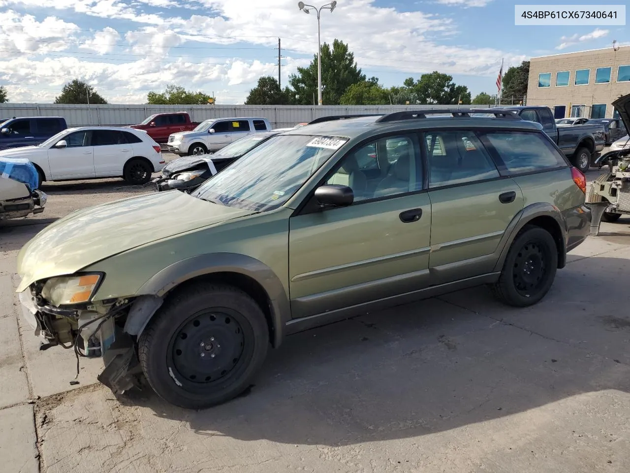
[[[167,148],[180,156],[214,153],[240,137],[271,131],[269,120],[261,117],[234,117],[204,120],[193,131],[171,134]]]

